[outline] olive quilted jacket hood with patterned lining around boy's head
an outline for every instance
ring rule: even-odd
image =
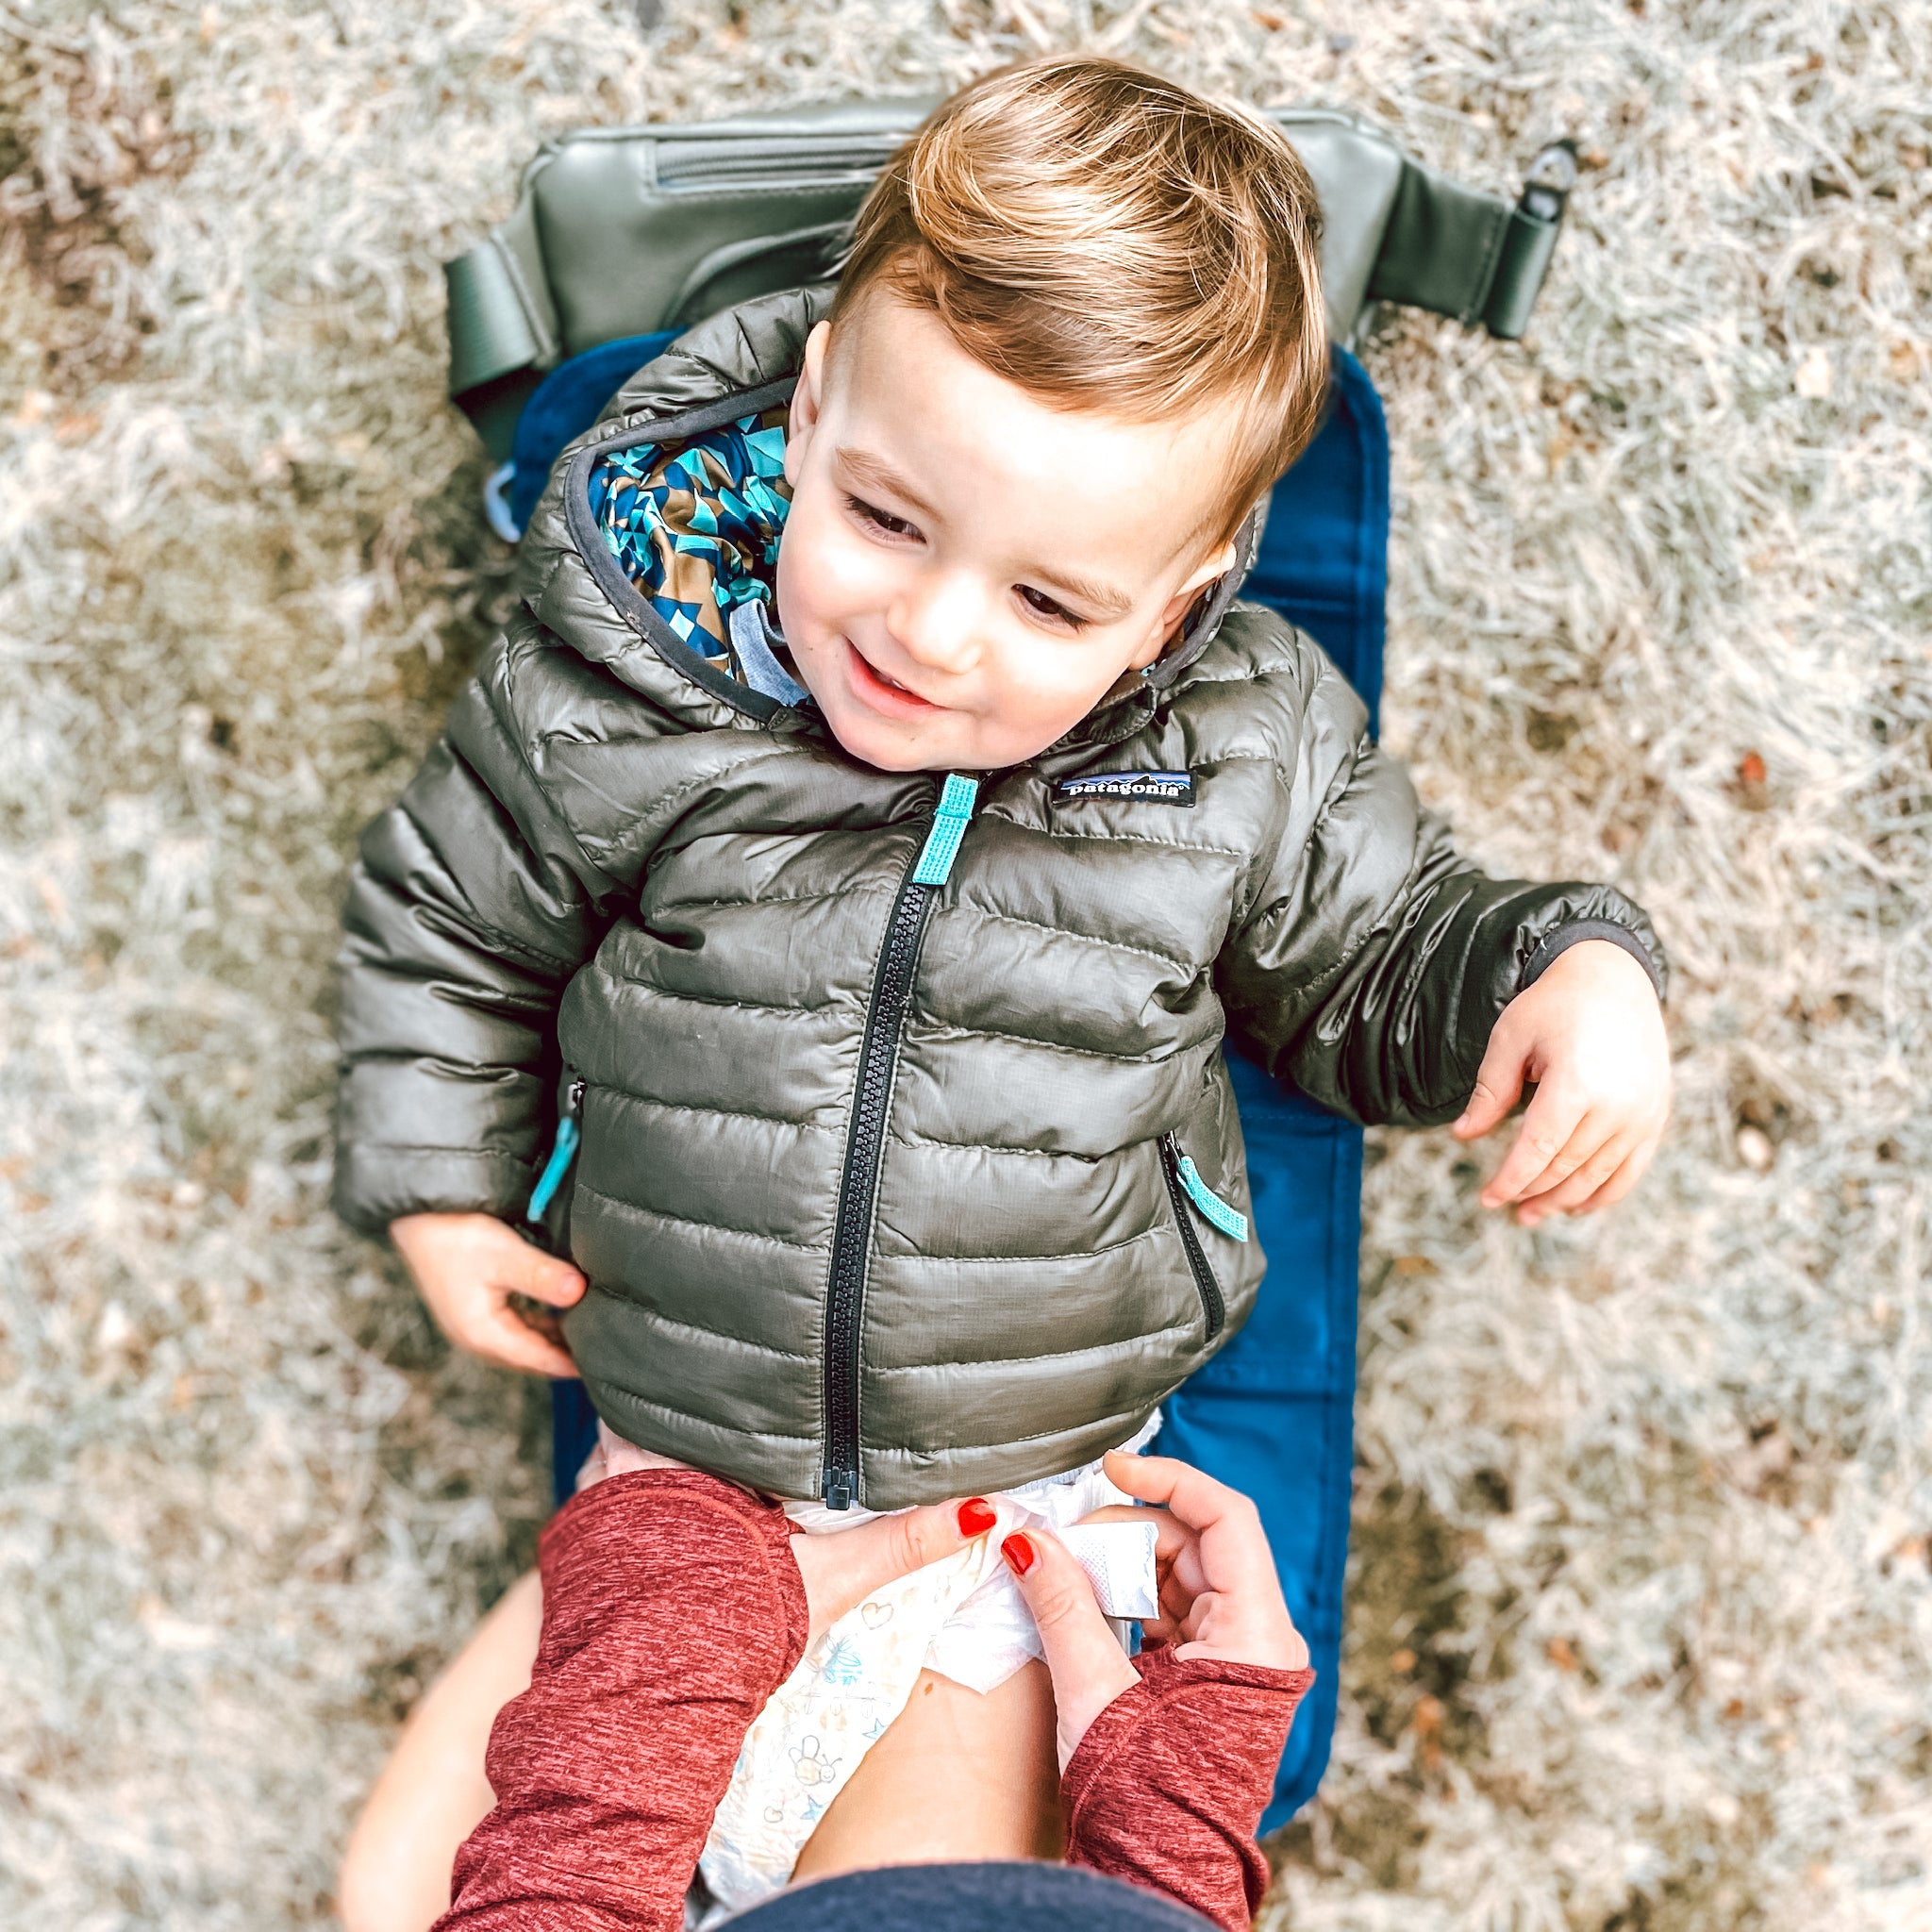
[[[784,290],[678,336],[556,460],[524,537],[531,614],[626,684],[672,709],[696,707],[705,723],[724,721],[719,705],[759,723],[788,709],[748,682],[730,612],[771,605],[790,502],[786,406],[806,336],[831,299],[825,286]],[[1265,510],[1264,500],[1242,524],[1235,568],[1204,591],[1179,639],[1090,717],[1142,694],[1151,701],[1208,651],[1254,566]]]

